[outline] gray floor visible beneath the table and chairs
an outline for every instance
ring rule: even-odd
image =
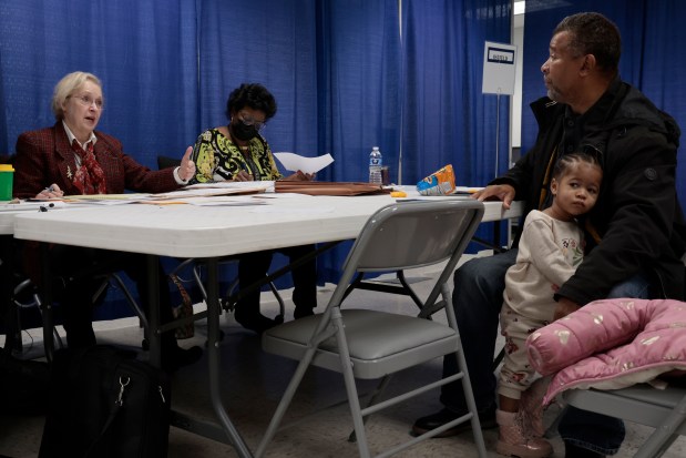
[[[410,273],[412,286],[421,296],[426,294],[432,272]],[[332,289],[331,285],[319,292],[320,308]],[[371,296],[370,296],[371,295]],[[263,312],[275,315],[277,305],[269,294],[263,295]],[[412,311],[400,296],[355,292],[349,298],[349,306],[364,304],[366,298],[373,297],[377,306],[383,309]],[[289,292],[285,292],[289,298]],[[287,317],[290,317],[293,306],[286,303]],[[224,384],[224,403],[232,419],[244,436],[248,446],[254,449],[258,444],[268,419],[278,403],[279,396],[288,381],[295,365],[293,362],[264,354],[260,350],[259,338],[237,325],[231,315],[222,318],[225,338],[222,342],[222,380]],[[133,319],[122,319],[96,324],[98,338],[101,343],[123,345],[140,345],[142,333]],[[204,322],[198,322],[195,337],[181,340],[182,346],[203,345],[206,335]],[[2,337],[0,337],[1,342]],[[31,330],[24,336],[25,357],[40,357],[42,342],[40,333]],[[396,377],[395,387],[409,386],[421,380],[433,380],[441,372],[440,362],[409,370]],[[206,359],[178,370],[173,378],[174,408],[186,414],[212,420],[213,410],[208,404],[206,384]],[[365,387],[365,385],[362,385]],[[364,390],[364,388],[362,388]],[[326,410],[315,417],[305,418],[315,407],[345,400],[342,381],[338,374],[327,370],[310,369],[306,375],[289,413],[288,420],[298,421],[295,426],[279,432],[268,449],[270,457],[354,457],[357,456],[355,444],[347,441],[351,423],[347,405]],[[417,417],[433,413],[440,408],[438,394],[428,394],[414,398],[407,406],[391,408],[371,417],[368,434],[372,451],[398,444],[408,437],[408,430]],[[546,411],[546,421],[552,423],[560,411],[559,406],[552,406]],[[0,455],[14,458],[35,457],[40,447],[43,417],[9,417],[0,416]],[[637,425],[627,425],[627,439],[617,457],[631,457],[635,449],[645,440],[651,429]],[[484,431],[487,448],[493,450],[496,430]],[[562,442],[553,437],[551,442],[555,457],[563,457]],[[222,442],[191,435],[172,428],[170,434],[170,454],[174,457],[233,457],[234,450]],[[477,452],[470,434],[446,439],[424,441],[399,457],[475,457]],[[500,457],[489,451],[491,457]],[[686,439],[677,440],[664,455],[666,458],[686,456]]]

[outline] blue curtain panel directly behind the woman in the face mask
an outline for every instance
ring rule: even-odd
[[[315,0],[198,0],[201,129],[195,136],[227,124],[229,92],[257,82],[277,103],[263,131],[272,150],[318,155],[315,14]]]

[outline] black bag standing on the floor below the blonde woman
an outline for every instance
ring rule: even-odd
[[[39,458],[166,457],[170,383],[133,352],[58,350]]]

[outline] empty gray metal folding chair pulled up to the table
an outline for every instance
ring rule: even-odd
[[[264,456],[310,364],[342,374],[361,457],[370,456],[365,432],[368,415],[455,380],[462,383],[469,414],[378,456],[390,456],[467,421],[471,421],[479,456],[487,456],[448,286],[482,216],[481,202],[444,200],[396,203],[367,221],[326,311],[263,334],[266,352],[299,360],[299,365],[259,444],[257,457]],[[359,272],[401,271],[446,261],[418,316],[375,311],[373,303],[369,309],[341,309],[345,292]],[[440,309],[446,312],[449,325],[430,319]],[[393,373],[451,354],[458,358],[458,374],[378,401]],[[381,378],[366,408],[360,407],[355,378]]]

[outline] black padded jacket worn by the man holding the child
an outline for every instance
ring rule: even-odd
[[[514,186],[525,214],[545,206],[546,170],[556,155],[592,149],[603,165],[598,201],[583,221],[586,257],[555,298],[585,305],[643,269],[652,297],[684,299],[686,222],[675,187],[680,131],[674,119],[620,79],[583,115],[547,98],[531,108],[535,145],[490,183]]]

